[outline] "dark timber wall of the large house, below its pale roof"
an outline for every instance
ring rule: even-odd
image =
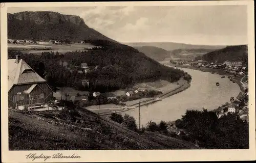
[[[24,104],[34,104],[34,103],[43,103],[53,99],[53,92],[47,83],[38,83],[34,90],[30,93],[31,95],[44,93],[43,99],[33,99],[29,103],[29,95],[23,94],[23,98],[16,101],[15,95],[18,92],[24,92],[29,89],[33,84],[25,84],[25,85],[16,85],[8,92],[8,107],[15,107],[16,104],[24,105]]]

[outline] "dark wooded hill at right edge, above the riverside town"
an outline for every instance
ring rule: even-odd
[[[248,47],[247,45],[227,46],[220,50],[215,50],[202,56],[204,61],[224,63],[242,62],[248,64]]]

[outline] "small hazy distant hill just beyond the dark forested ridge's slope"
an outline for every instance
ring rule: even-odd
[[[135,46],[135,49],[143,52],[147,57],[156,61],[164,61],[170,57],[170,51],[155,46]]]

